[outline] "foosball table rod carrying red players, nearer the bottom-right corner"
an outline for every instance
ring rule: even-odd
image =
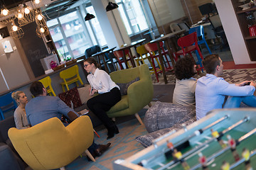
[[[243,135],[242,137],[240,137],[237,140],[237,145],[240,144],[240,142],[242,142],[242,140],[247,139],[247,137],[250,137],[251,135],[255,134],[256,132],[256,128],[251,130],[250,132],[247,132],[247,134]],[[206,160],[206,162],[210,162],[210,160],[215,159],[216,157],[220,156],[220,154],[223,154],[224,152],[226,152],[228,149],[230,149],[230,146],[225,147],[224,149],[221,149],[219,152],[216,152],[215,154],[212,154],[210,157],[208,157],[208,159]],[[201,164],[197,164],[196,166],[193,166],[190,170],[193,169],[198,169],[201,167]]]

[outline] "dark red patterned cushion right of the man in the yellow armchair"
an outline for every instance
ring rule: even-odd
[[[58,96],[70,108],[71,108],[71,102],[70,101],[72,101],[74,108],[82,106],[80,96],[78,94],[78,89],[76,87],[73,88],[73,89],[70,89],[69,91],[66,91],[64,93],[61,93]]]

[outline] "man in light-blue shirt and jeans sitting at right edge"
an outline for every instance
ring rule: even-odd
[[[223,108],[225,96],[229,96],[224,108],[239,108],[243,102],[256,107],[255,82],[243,81],[240,84],[229,84],[222,77],[223,62],[218,55],[208,55],[203,60],[206,76],[198,79],[196,84],[196,118],[203,118],[208,111]],[[250,83],[249,86],[245,86]]]

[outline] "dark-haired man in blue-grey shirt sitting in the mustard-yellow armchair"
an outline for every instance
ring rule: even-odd
[[[30,125],[37,125],[50,118],[61,118],[62,115],[68,117],[71,121],[78,118],[78,113],[68,107],[60,98],[56,96],[46,96],[47,90],[40,81],[35,81],[30,86],[30,91],[35,98],[32,98],[26,105],[26,113],[28,123]],[[111,143],[107,145],[97,145],[92,142],[88,151],[92,157],[99,157],[105,150],[110,147]]]

